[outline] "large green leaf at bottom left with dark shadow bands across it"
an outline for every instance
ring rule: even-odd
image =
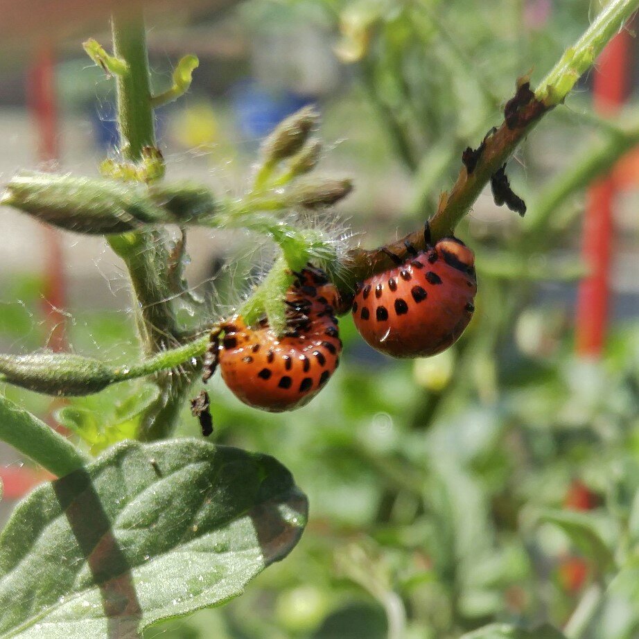
[[[0,636],[133,637],[226,602],[286,557],[306,509],[268,455],[125,441],[15,510],[0,537]]]

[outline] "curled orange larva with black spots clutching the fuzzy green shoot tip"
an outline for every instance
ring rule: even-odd
[[[307,268],[286,293],[287,335],[278,337],[267,322],[251,329],[239,315],[222,324],[219,366],[238,399],[271,412],[313,399],[340,361],[337,303],[337,290],[324,274]]]

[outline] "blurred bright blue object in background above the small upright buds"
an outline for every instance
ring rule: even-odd
[[[253,80],[242,80],[231,89],[238,129],[245,139],[261,139],[286,116],[313,104],[310,96],[291,91],[274,93]]]

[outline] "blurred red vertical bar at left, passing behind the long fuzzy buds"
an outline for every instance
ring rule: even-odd
[[[44,45],[38,51],[28,76],[28,105],[37,128],[38,156],[43,163],[53,164],[59,157],[58,112],[55,96],[55,62],[51,46]],[[66,316],[63,309],[66,299],[64,259],[60,234],[43,225],[44,234],[44,287],[42,299],[49,326],[49,348],[63,351],[67,348]]]

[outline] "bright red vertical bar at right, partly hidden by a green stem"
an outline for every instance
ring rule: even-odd
[[[622,30],[599,56],[593,85],[595,110],[611,116],[628,94],[632,38]],[[582,254],[590,274],[577,294],[576,350],[584,357],[598,357],[604,348],[610,304],[610,268],[613,240],[613,204],[617,186],[608,175],[588,190]]]

